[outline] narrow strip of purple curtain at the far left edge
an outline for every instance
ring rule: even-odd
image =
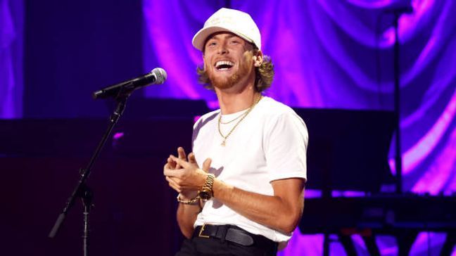
[[[0,0],[0,118],[22,117],[23,1]]]

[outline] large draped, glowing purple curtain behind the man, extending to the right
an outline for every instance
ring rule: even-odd
[[[393,110],[391,9],[407,1],[228,3],[250,13],[262,31],[263,53],[272,57],[276,70],[269,96],[297,107]],[[202,59],[191,38],[225,4],[144,1],[144,67],[163,67],[169,77],[165,86],[149,88],[147,96],[203,98],[217,107],[215,96],[196,82],[196,66]],[[404,188],[452,193],[456,191],[456,1],[411,4],[413,13],[399,20]],[[394,172],[392,157],[390,164]],[[438,240],[438,236],[422,234],[412,253],[426,250],[428,238]],[[396,253],[388,241],[383,240],[382,253]],[[321,243],[321,236],[293,236],[282,255],[321,255]],[[365,251],[361,245],[357,249]]]

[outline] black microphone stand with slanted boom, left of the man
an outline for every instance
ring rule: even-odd
[[[118,105],[115,108],[114,113],[109,117],[108,129],[106,129],[106,132],[101,138],[99,145],[96,147],[96,150],[92,155],[87,167],[84,169],[80,169],[80,180],[77,182],[77,185],[75,189],[72,191],[70,198],[68,198],[68,201],[65,207],[63,208],[62,213],[58,215],[56,223],[53,225],[53,228],[49,233],[49,238],[53,238],[56,236],[58,229],[60,229],[61,225],[63,224],[63,221],[65,220],[66,215],[68,214],[68,211],[70,210],[72,205],[74,205],[75,198],[81,198],[82,205],[84,206],[84,235],[82,236],[84,256],[89,255],[89,213],[91,210],[92,200],[94,197],[94,193],[91,191],[89,186],[87,186],[86,180],[91,173],[91,169],[94,166],[95,161],[99,158],[101,149],[105,145],[106,141],[108,141],[108,138],[111,132],[113,131],[115,124],[117,124],[118,120],[122,116],[122,113],[125,110],[125,104],[127,103],[127,99],[131,93],[132,90],[120,91],[118,96],[115,98]]]

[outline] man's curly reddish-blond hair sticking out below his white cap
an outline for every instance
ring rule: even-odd
[[[258,53],[258,49],[253,49],[253,55]],[[205,72],[204,68],[196,68],[198,74],[198,82],[204,84],[205,88],[213,90],[214,87],[210,84],[208,73]],[[258,92],[265,91],[271,87],[272,79],[274,79],[274,65],[270,56],[263,56],[263,61],[260,67],[255,67],[255,90]]]

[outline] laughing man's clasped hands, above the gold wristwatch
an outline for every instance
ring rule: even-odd
[[[171,188],[180,193],[182,199],[195,198],[208,177],[211,160],[207,158],[200,169],[194,153],[188,157],[184,148],[177,148],[177,155],[170,155],[163,167],[163,174]]]

